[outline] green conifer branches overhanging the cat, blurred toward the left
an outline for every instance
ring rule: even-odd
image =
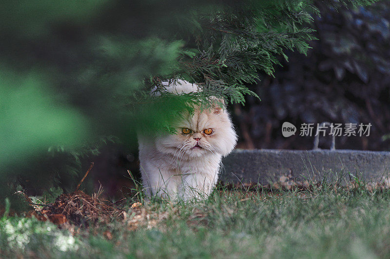
[[[4,3],[0,184],[68,173],[63,161],[48,158],[51,146],[77,149],[105,136],[134,145],[137,128],[169,129],[210,96],[243,104],[245,95],[256,96],[245,84],[260,71],[273,74],[284,50],[307,52],[314,37],[306,23],[317,12],[307,0]],[[149,96],[177,78],[203,91]]]

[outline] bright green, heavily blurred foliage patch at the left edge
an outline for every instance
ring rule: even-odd
[[[31,156],[53,144],[76,147],[86,139],[88,121],[61,102],[39,72],[0,73],[0,171],[16,157]],[[21,163],[18,159],[18,163]]]

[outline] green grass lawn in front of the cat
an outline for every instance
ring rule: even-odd
[[[390,192],[215,192],[205,202],[153,203],[137,230],[113,220],[71,235],[36,219],[3,218],[0,257],[389,258]],[[109,231],[112,239],[103,233]]]

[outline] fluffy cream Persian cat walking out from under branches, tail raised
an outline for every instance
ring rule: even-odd
[[[163,84],[174,94],[199,91],[197,85],[184,80]],[[207,198],[212,192],[222,156],[232,152],[237,135],[226,108],[216,98],[211,100],[212,109],[195,107],[193,115],[172,125],[176,134],[138,135],[142,187],[147,196],[186,201]]]

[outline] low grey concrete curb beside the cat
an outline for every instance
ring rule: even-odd
[[[377,182],[390,176],[390,152],[359,150],[234,150],[222,160],[226,183],[272,184],[290,173],[296,180],[336,180],[354,176]]]

